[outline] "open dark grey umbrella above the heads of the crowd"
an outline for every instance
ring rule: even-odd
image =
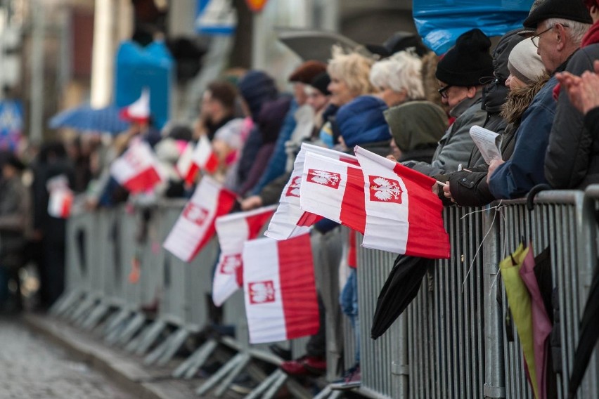
[[[278,39],[303,60],[317,60],[328,63],[330,48],[336,44],[344,50],[354,50],[358,43],[335,32],[313,29],[279,28]]]

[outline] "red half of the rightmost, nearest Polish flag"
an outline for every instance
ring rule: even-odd
[[[408,190],[408,242],[406,255],[431,259],[449,259],[449,235],[443,225],[443,204],[432,192],[436,184],[418,171],[396,164],[393,171]]]

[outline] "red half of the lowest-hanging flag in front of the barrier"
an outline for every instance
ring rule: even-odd
[[[287,339],[314,335],[320,323],[310,235],[278,241],[277,250]]]

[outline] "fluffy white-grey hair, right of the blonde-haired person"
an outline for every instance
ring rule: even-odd
[[[371,68],[371,83],[378,88],[388,87],[392,91],[406,91],[410,100],[424,98],[423,63],[411,51],[399,51],[389,58],[378,61]]]

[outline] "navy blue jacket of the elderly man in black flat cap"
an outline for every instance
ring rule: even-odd
[[[544,173],[545,152],[553,126],[556,102],[553,88],[558,80],[551,77],[522,115],[515,133],[515,148],[510,160],[498,166],[489,180],[489,190],[497,199],[527,195],[537,184],[547,183]]]

